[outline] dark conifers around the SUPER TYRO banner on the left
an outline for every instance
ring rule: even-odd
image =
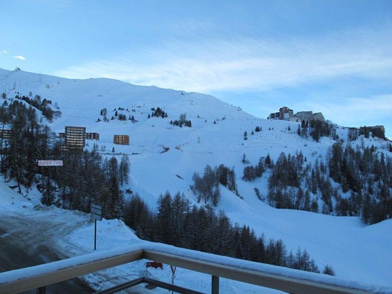
[[[49,126],[37,121],[31,106],[15,100],[0,107],[0,123],[9,136],[0,136],[0,171],[5,180],[15,179],[18,192],[35,183],[41,202],[89,212],[91,203],[103,206],[103,217],[123,214],[119,185],[128,182],[130,163],[123,155],[102,158],[98,145],[91,151],[64,150]],[[63,160],[62,167],[39,167],[38,160]]]

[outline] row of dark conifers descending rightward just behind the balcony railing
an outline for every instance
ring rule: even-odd
[[[135,194],[125,202],[124,221],[139,238],[239,259],[319,272],[308,252],[298,248],[288,252],[282,240],[267,239],[248,226],[232,224],[227,215],[210,205],[191,205],[180,194],[160,195],[157,212],[151,211]],[[323,273],[334,274],[331,266]]]

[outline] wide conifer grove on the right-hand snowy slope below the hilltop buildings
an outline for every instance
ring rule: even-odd
[[[326,157],[312,165],[302,152],[282,152],[275,163],[268,156],[246,166],[243,179],[252,181],[269,171],[267,200],[276,208],[361,216],[365,223],[392,218],[390,156],[374,146],[343,148],[335,143]]]

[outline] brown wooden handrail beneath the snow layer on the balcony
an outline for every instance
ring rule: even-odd
[[[112,267],[127,264],[133,261],[148,259],[160,261],[165,264],[178,266],[180,268],[195,270],[213,276],[219,276],[231,280],[241,281],[249,284],[281,290],[293,294],[367,294],[370,292],[345,288],[337,285],[329,285],[321,282],[309,281],[299,278],[287,277],[278,274],[263,272],[260,270],[249,270],[241,267],[228,266],[219,262],[205,261],[197,258],[190,258],[180,254],[161,252],[158,250],[140,249],[133,252],[102,258],[95,261],[84,261],[80,256],[77,266],[61,268],[65,261],[60,260],[51,263],[58,265],[58,270],[44,270],[46,265],[28,268],[29,272],[38,272],[36,275],[29,274],[16,281],[0,284],[0,294],[14,294],[57,282],[72,279],[98,270],[105,270]],[[75,259],[75,258],[74,258]],[[77,258],[76,258],[77,259]],[[54,267],[55,268],[55,267]],[[30,271],[31,270],[31,271]],[[18,270],[16,270],[18,271]],[[0,273],[1,276],[8,272]]]

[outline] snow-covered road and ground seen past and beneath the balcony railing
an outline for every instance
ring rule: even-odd
[[[94,222],[87,214],[53,207],[2,210],[0,206],[0,272],[25,268],[59,259],[91,253],[94,248]],[[116,246],[132,245],[139,239],[117,220],[103,220],[97,229],[98,250]],[[171,281],[171,270],[146,270],[146,260],[136,261],[119,267],[101,270],[83,276],[96,291],[108,289],[140,276],[165,282]],[[177,269],[176,284],[208,293],[211,276],[191,270]],[[53,287],[53,288],[52,288]],[[79,280],[59,283],[48,287],[49,293],[92,293]],[[138,285],[122,293],[168,293],[164,289],[147,290]],[[266,289],[232,280],[221,279],[222,294],[277,294],[279,291]],[[35,293],[33,291],[29,293]]]

